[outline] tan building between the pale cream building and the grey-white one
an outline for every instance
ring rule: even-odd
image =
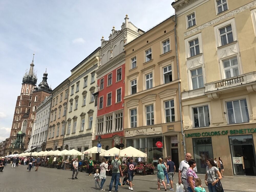
[[[63,150],[63,138],[67,126],[69,80],[65,79],[52,90],[46,150]]]

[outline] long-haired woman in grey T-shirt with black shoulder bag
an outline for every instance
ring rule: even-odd
[[[219,169],[215,166],[212,158],[207,159],[206,163],[208,166],[206,167],[205,184],[209,192],[221,192],[223,190],[220,183],[222,177]]]

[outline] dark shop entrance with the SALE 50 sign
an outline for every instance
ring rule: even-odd
[[[252,135],[229,136],[234,175],[256,175]]]

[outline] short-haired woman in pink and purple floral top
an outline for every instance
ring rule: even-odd
[[[194,188],[197,187],[195,184],[195,179],[198,178],[194,168],[196,167],[196,161],[194,159],[190,159],[188,161],[188,169],[187,169],[187,188],[188,192],[195,192]]]

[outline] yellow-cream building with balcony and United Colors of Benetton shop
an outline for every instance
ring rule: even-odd
[[[205,173],[256,175],[256,1],[177,0],[186,151]]]

